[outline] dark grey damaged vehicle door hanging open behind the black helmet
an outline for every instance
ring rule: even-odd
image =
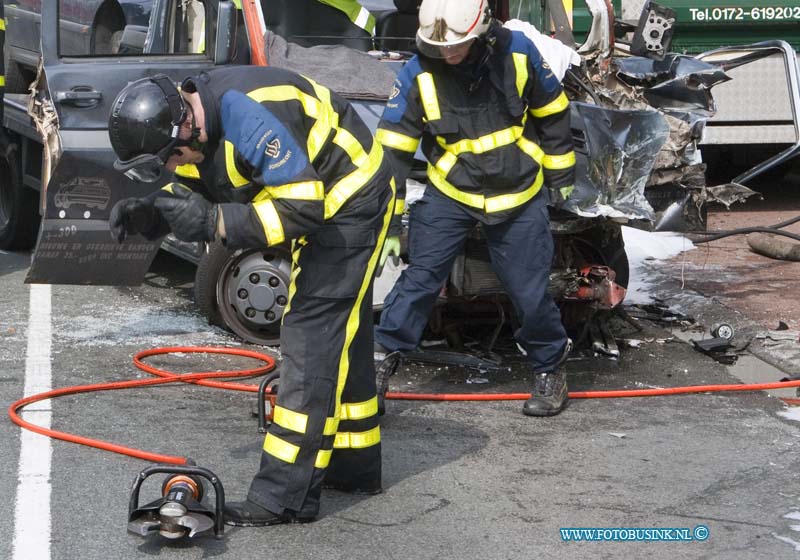
[[[59,42],[59,15],[67,0],[42,7],[44,80],[34,115],[45,140],[42,221],[26,282],[136,285],[158,251],[159,241],[111,238],[114,203],[143,196],[161,184],[131,181],[113,169],[108,115],[129,82],[166,74],[184,77],[230,60],[236,8],[216,0],[155,0],[146,30],[125,29],[120,53],[67,54]],[[213,45],[203,48],[200,45]],[[46,84],[43,85],[43,84]]]

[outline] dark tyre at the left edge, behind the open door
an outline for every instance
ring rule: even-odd
[[[38,202],[38,193],[22,184],[16,145],[6,145],[0,149],[0,249],[33,247],[39,231]]]

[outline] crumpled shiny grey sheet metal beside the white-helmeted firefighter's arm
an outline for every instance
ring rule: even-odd
[[[579,216],[652,221],[645,185],[669,126],[658,111],[621,111],[572,104],[574,129],[583,131],[575,191],[565,209]]]

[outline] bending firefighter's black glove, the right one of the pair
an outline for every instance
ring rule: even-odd
[[[173,196],[156,199],[155,206],[181,241],[213,241],[217,233],[219,207],[180,185],[173,185]]]

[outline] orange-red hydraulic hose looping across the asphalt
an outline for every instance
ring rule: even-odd
[[[244,356],[253,358],[265,363],[264,366],[256,369],[223,371],[223,372],[204,372],[204,373],[187,373],[176,374],[169,371],[161,370],[156,367],[145,364],[142,360],[150,356],[173,354],[173,353],[186,353],[186,354],[226,354],[233,356]],[[60,432],[57,430],[42,428],[36,424],[32,424],[20,418],[19,412],[25,406],[64,395],[74,395],[78,393],[90,393],[96,391],[110,391],[116,389],[132,389],[137,387],[149,387],[154,385],[165,385],[167,383],[191,383],[195,385],[202,385],[204,387],[212,387],[215,389],[230,389],[234,391],[247,391],[256,393],[258,386],[245,385],[241,383],[223,383],[220,381],[212,381],[212,379],[222,378],[235,378],[235,377],[251,377],[268,373],[275,368],[275,360],[260,352],[252,350],[245,350],[241,348],[218,348],[214,346],[193,346],[184,347],[176,346],[169,348],[154,348],[152,350],[144,350],[137,353],[133,358],[134,365],[142,371],[151,373],[158,376],[157,379],[137,379],[133,381],[117,381],[112,383],[98,383],[90,385],[78,385],[75,387],[64,387],[39,393],[25,397],[13,403],[8,409],[8,415],[11,421],[38,434],[48,436],[62,441],[72,443],[79,443],[90,447],[96,447],[105,451],[112,451],[122,455],[128,455],[137,459],[144,459],[145,461],[153,461],[157,463],[170,463],[175,465],[186,464],[185,457],[175,457],[171,455],[160,455],[157,453],[150,453],[109,443],[102,440],[91,439],[67,432]],[[792,381],[780,381],[775,383],[750,383],[750,384],[735,384],[735,385],[691,385],[686,387],[664,387],[659,389],[626,389],[616,391],[574,391],[569,394],[572,399],[598,399],[598,398],[620,398],[620,397],[655,397],[665,395],[681,395],[690,393],[711,393],[711,392],[724,392],[724,391],[763,391],[768,389],[788,389],[791,387],[800,387],[800,379]],[[527,400],[530,398],[530,393],[494,393],[494,394],[475,394],[475,393],[387,393],[387,399],[394,400],[414,400],[414,401],[511,401],[511,400]],[[800,404],[800,399],[783,399],[788,404]],[[797,402],[793,402],[797,401]]]

